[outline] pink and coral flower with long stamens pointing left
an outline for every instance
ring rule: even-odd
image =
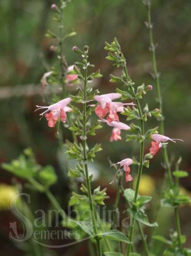
[[[57,103],[54,103],[50,106],[38,106],[36,105],[37,109],[44,109],[47,108],[46,111],[40,114],[40,116],[45,116],[46,120],[48,121],[49,127],[55,127],[57,121],[60,119],[63,123],[66,121],[66,112],[71,112],[72,108],[67,107],[67,104],[71,102],[71,98],[63,99]]]

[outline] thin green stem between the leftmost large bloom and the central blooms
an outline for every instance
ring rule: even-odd
[[[86,54],[86,61],[87,61],[87,54]],[[88,164],[87,164],[87,150],[86,150],[86,145],[87,145],[87,135],[86,135],[86,116],[87,116],[87,77],[88,77],[88,68],[86,67],[84,71],[84,102],[83,102],[83,154],[84,154],[84,168],[85,168],[85,178],[86,178],[86,186],[88,190],[88,198],[89,198],[89,203],[90,203],[90,210],[91,210],[91,221],[93,224],[93,231],[95,235],[95,239],[97,242],[97,254],[98,256],[102,255],[102,250],[101,250],[101,243],[100,239],[98,237],[98,228],[97,228],[97,223],[96,223],[96,215],[95,215],[95,209],[92,201],[92,193],[91,193],[91,183],[89,179],[89,173],[88,173]]]

